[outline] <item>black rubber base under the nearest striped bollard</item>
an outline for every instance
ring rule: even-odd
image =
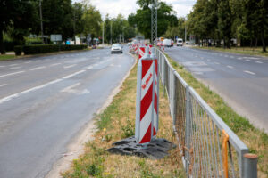
[[[176,148],[176,145],[165,139],[155,139],[147,145],[137,144],[134,136],[114,142],[108,149],[110,153],[121,155],[135,155],[143,158],[161,159],[169,155],[168,151]]]

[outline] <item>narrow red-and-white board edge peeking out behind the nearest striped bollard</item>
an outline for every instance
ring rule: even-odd
[[[154,60],[154,62],[155,62],[155,77],[154,77],[154,84],[155,84],[155,91],[154,91],[154,93],[155,93],[155,97],[154,97],[154,99],[155,99],[155,101],[154,101],[154,130],[153,130],[153,134],[154,134],[154,136],[157,134],[157,131],[158,131],[158,123],[159,123],[159,121],[158,121],[158,119],[159,119],[159,117],[158,117],[158,110],[159,110],[159,98],[158,98],[158,96],[159,96],[159,83],[158,83],[158,81],[159,81],[159,66],[158,66],[158,60],[157,60],[157,57],[156,57],[156,55],[155,55],[155,48],[154,47],[152,47],[151,48],[151,59],[153,59]]]

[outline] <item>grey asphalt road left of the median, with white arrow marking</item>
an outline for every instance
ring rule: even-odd
[[[0,177],[44,177],[133,62],[127,49],[0,62]]]

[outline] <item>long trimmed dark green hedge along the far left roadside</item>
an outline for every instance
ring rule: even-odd
[[[37,44],[25,45],[23,52],[27,54],[52,53],[59,51],[83,50],[87,45]]]

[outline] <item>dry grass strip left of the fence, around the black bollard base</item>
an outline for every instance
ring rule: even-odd
[[[85,145],[85,153],[73,160],[71,169],[63,173],[64,178],[72,177],[185,177],[179,150],[172,150],[170,156],[161,160],[109,154],[105,150],[113,142],[135,133],[137,65],[121,86],[121,92],[113,102],[96,116],[98,131],[94,140]],[[160,88],[158,138],[176,142],[172,130],[167,98]]]

